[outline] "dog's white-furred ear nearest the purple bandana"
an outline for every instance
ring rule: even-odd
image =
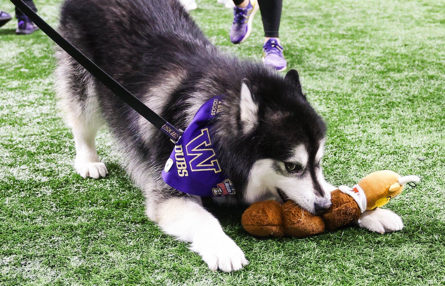
[[[239,110],[244,133],[253,130],[258,124],[258,104],[253,100],[246,79],[241,83]]]

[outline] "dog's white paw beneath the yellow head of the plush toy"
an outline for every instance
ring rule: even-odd
[[[401,217],[384,208],[365,211],[360,216],[360,220],[357,224],[361,228],[375,231],[377,233],[390,233],[403,229]]]

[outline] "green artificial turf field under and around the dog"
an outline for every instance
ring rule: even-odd
[[[197,0],[191,14],[221,49],[259,60],[260,16],[242,45],[231,11]],[[56,25],[60,1],[36,0]],[[0,9],[13,11],[7,0]],[[73,136],[56,107],[54,44],[42,32],[0,28],[0,285],[444,285],[443,0],[284,0],[281,40],[307,98],[328,122],[323,162],[334,184],[379,169],[421,177],[385,207],[405,229],[356,227],[307,239],[261,240],[224,217],[250,264],[212,272],[186,243],[144,215],[107,131],[98,150],[110,175],[73,172]],[[118,15],[117,15],[118,16]]]

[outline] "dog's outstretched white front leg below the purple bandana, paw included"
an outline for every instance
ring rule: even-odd
[[[190,242],[190,249],[204,260],[211,270],[239,270],[249,262],[243,251],[228,237],[218,220],[196,200],[171,197],[159,202],[152,219],[166,233]]]

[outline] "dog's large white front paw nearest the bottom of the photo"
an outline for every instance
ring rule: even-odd
[[[249,264],[243,250],[225,234],[216,239],[206,237],[205,240],[196,241],[192,243],[190,250],[201,255],[202,260],[213,271],[219,269],[231,272]]]

